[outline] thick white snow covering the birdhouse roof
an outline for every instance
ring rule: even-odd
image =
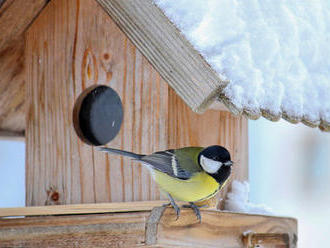
[[[252,118],[330,127],[328,0],[154,0]]]

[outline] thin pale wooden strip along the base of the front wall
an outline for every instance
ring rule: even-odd
[[[112,203],[0,208],[0,218],[14,217],[14,216],[71,215],[71,214],[151,211],[154,207],[159,207],[165,203],[168,202],[167,201],[136,201],[136,202],[112,202]]]

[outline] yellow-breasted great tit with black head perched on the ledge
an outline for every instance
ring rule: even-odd
[[[99,150],[116,153],[142,162],[151,172],[161,190],[167,193],[176,211],[180,208],[175,200],[189,202],[197,218],[201,221],[198,202],[213,197],[230,176],[233,162],[226,148],[218,145],[204,147],[184,147],[165,150],[150,155],[100,147]]]

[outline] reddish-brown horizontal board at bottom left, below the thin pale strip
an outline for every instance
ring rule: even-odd
[[[0,247],[137,247],[148,212],[0,220]]]

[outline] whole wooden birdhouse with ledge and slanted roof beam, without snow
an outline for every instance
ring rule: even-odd
[[[166,198],[146,169],[97,151],[81,131],[80,110],[89,108],[96,144],[109,139],[109,147],[142,154],[225,146],[235,166],[213,208],[223,209],[233,180],[248,180],[246,115],[268,112],[238,109],[224,96],[228,82],[151,0],[0,7],[0,130],[25,136],[27,206],[0,216],[34,216],[0,219],[0,247],[295,246],[291,218],[202,210],[200,224],[185,209],[176,221],[173,209],[159,208]],[[103,100],[86,100],[99,93]],[[98,125],[103,117],[115,119]]]

